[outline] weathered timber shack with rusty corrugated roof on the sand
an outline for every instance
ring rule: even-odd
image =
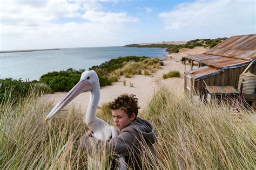
[[[233,36],[203,54],[188,55],[191,70],[186,71],[185,93],[206,93],[207,86],[233,86],[238,89],[239,75],[256,59],[256,34]],[[255,61],[255,60],[254,60]],[[193,69],[193,63],[199,67]],[[256,63],[249,68],[256,75]],[[254,91],[255,93],[255,91]]]

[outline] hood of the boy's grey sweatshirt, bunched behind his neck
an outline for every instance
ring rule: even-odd
[[[127,128],[132,128],[137,130],[146,141],[149,141],[151,144],[156,143],[157,133],[156,126],[150,121],[137,117],[132,121]],[[126,129],[126,128],[125,128]]]

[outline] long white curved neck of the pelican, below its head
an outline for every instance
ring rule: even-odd
[[[96,109],[99,104],[100,98],[100,90],[99,90],[99,82],[96,82],[92,85],[92,91],[90,95],[90,103],[87,108],[85,123],[89,125],[92,122],[96,121]]]

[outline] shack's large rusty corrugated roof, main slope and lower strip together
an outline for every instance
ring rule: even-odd
[[[248,65],[256,59],[256,34],[233,36],[203,54],[189,55],[186,58],[220,69]]]

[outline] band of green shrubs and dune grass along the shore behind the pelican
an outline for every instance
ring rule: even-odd
[[[147,58],[146,56],[125,56],[111,59],[99,66],[92,66],[89,70],[95,70],[100,87],[110,86],[118,81],[120,76],[132,77],[136,74],[150,75],[160,69],[158,58]],[[33,87],[41,87],[44,93],[55,93],[57,91],[69,91],[80,80],[85,69],[76,70],[69,68],[59,72],[50,72],[41,76],[39,81],[26,82],[22,79],[0,79],[0,103],[4,102],[4,95],[11,95],[15,101],[29,95]],[[11,87],[11,88],[10,88]],[[41,90],[42,91],[42,90]]]

